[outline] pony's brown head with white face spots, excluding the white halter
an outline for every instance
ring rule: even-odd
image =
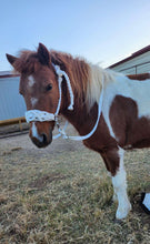
[[[47,48],[40,43],[37,52],[22,51],[19,58],[10,54],[7,58],[20,73],[20,93],[24,98],[27,111],[38,110],[54,114],[60,94],[53,64],[59,63],[54,63],[56,60],[52,60]],[[30,121],[29,134],[32,142],[39,148],[50,144],[53,128],[54,121]]]

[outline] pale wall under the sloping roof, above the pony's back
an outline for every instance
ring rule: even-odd
[[[112,68],[124,74],[150,72],[150,51]]]

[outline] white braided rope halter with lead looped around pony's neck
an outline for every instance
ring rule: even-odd
[[[58,102],[57,111],[53,114],[53,113],[49,113],[49,112],[41,111],[41,110],[29,110],[29,111],[26,112],[26,120],[27,120],[28,123],[29,122],[36,122],[36,121],[39,121],[39,122],[56,121],[57,125],[58,125],[59,134],[52,136],[53,139],[58,139],[60,136],[62,136],[63,139],[70,139],[70,140],[74,140],[74,141],[83,141],[86,139],[89,139],[96,132],[96,130],[98,128],[99,119],[100,119],[100,115],[101,115],[101,112],[102,112],[103,79],[102,79],[101,94],[100,94],[99,104],[98,104],[98,118],[97,118],[97,122],[96,122],[93,129],[87,135],[69,136],[69,135],[66,134],[66,129],[67,129],[68,122],[66,122],[63,129],[60,128],[59,122],[58,122],[58,114],[59,114],[60,105],[61,105],[61,93],[62,93],[61,92],[61,83],[62,83],[62,77],[66,78],[67,87],[68,87],[69,94],[70,94],[70,105],[68,106],[69,110],[73,110],[74,96],[73,96],[73,92],[72,92],[72,88],[71,88],[71,83],[70,83],[68,74],[64,71],[60,70],[59,65],[54,65],[54,64],[52,64],[52,65],[53,65],[53,68],[56,70],[56,73],[58,74],[58,85],[59,85],[59,102]]]

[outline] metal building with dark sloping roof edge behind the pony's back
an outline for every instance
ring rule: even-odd
[[[124,74],[150,72],[150,45],[132,53],[127,59],[123,59],[109,68]]]

